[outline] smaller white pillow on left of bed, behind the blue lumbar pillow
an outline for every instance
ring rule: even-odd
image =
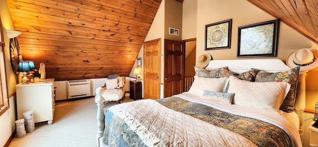
[[[228,77],[207,78],[194,75],[194,81],[189,93],[203,96],[203,90],[222,92]]]

